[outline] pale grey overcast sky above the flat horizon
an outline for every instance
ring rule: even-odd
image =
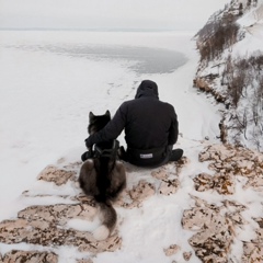
[[[229,1],[0,0],[0,28],[198,30]]]

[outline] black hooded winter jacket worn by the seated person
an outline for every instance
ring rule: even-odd
[[[174,145],[178,140],[178,116],[172,105],[159,101],[158,87],[144,80],[135,100],[124,102],[113,119],[99,133],[90,135],[87,146],[116,139],[125,129],[127,147],[152,149]]]

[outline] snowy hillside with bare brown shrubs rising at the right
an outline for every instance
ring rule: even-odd
[[[231,1],[199,32],[197,43],[204,59],[195,82],[226,104],[222,141],[263,151],[263,2],[248,4]],[[219,30],[225,30],[224,39],[217,36]],[[208,39],[213,39],[211,52],[224,42],[217,54],[207,50]]]

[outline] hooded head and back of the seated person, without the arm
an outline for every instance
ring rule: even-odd
[[[137,90],[136,99],[121,106],[127,114],[125,139],[129,148],[146,150],[173,145],[176,140],[178,121],[174,108],[159,101],[153,83],[144,81]],[[172,125],[176,126],[174,138],[169,137]]]

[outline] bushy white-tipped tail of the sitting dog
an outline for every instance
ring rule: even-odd
[[[117,221],[117,214],[110,201],[100,202],[99,206],[102,225],[94,230],[93,237],[96,240],[104,240],[108,238],[112,230],[114,229]]]

